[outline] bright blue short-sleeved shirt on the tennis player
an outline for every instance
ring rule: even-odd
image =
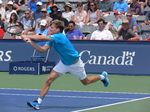
[[[52,46],[60,54],[64,65],[72,65],[80,57],[63,33],[53,34],[49,37],[53,41],[47,41],[46,44]]]

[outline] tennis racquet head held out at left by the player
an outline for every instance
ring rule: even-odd
[[[6,29],[6,32],[12,35],[20,35],[23,31],[23,28],[19,25],[9,26]]]

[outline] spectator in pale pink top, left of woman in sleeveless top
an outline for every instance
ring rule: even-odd
[[[86,23],[87,12],[83,10],[83,4],[81,2],[77,3],[77,11],[75,11],[72,20],[79,25],[81,28]]]

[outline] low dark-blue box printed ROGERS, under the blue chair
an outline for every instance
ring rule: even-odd
[[[55,62],[19,61],[9,63],[9,74],[49,74],[55,66]]]

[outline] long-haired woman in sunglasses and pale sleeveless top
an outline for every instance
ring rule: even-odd
[[[100,19],[100,10],[95,2],[90,3],[90,9],[88,10],[85,25],[98,26],[97,21]]]

